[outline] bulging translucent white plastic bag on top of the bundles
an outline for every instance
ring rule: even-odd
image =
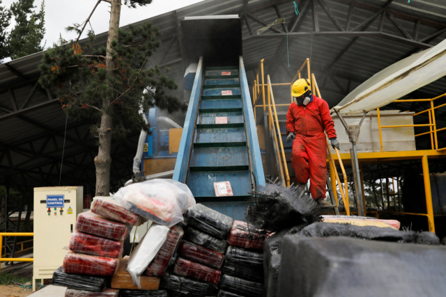
[[[152,179],[121,188],[114,198],[125,209],[160,225],[172,227],[195,204],[189,187],[173,179]]]

